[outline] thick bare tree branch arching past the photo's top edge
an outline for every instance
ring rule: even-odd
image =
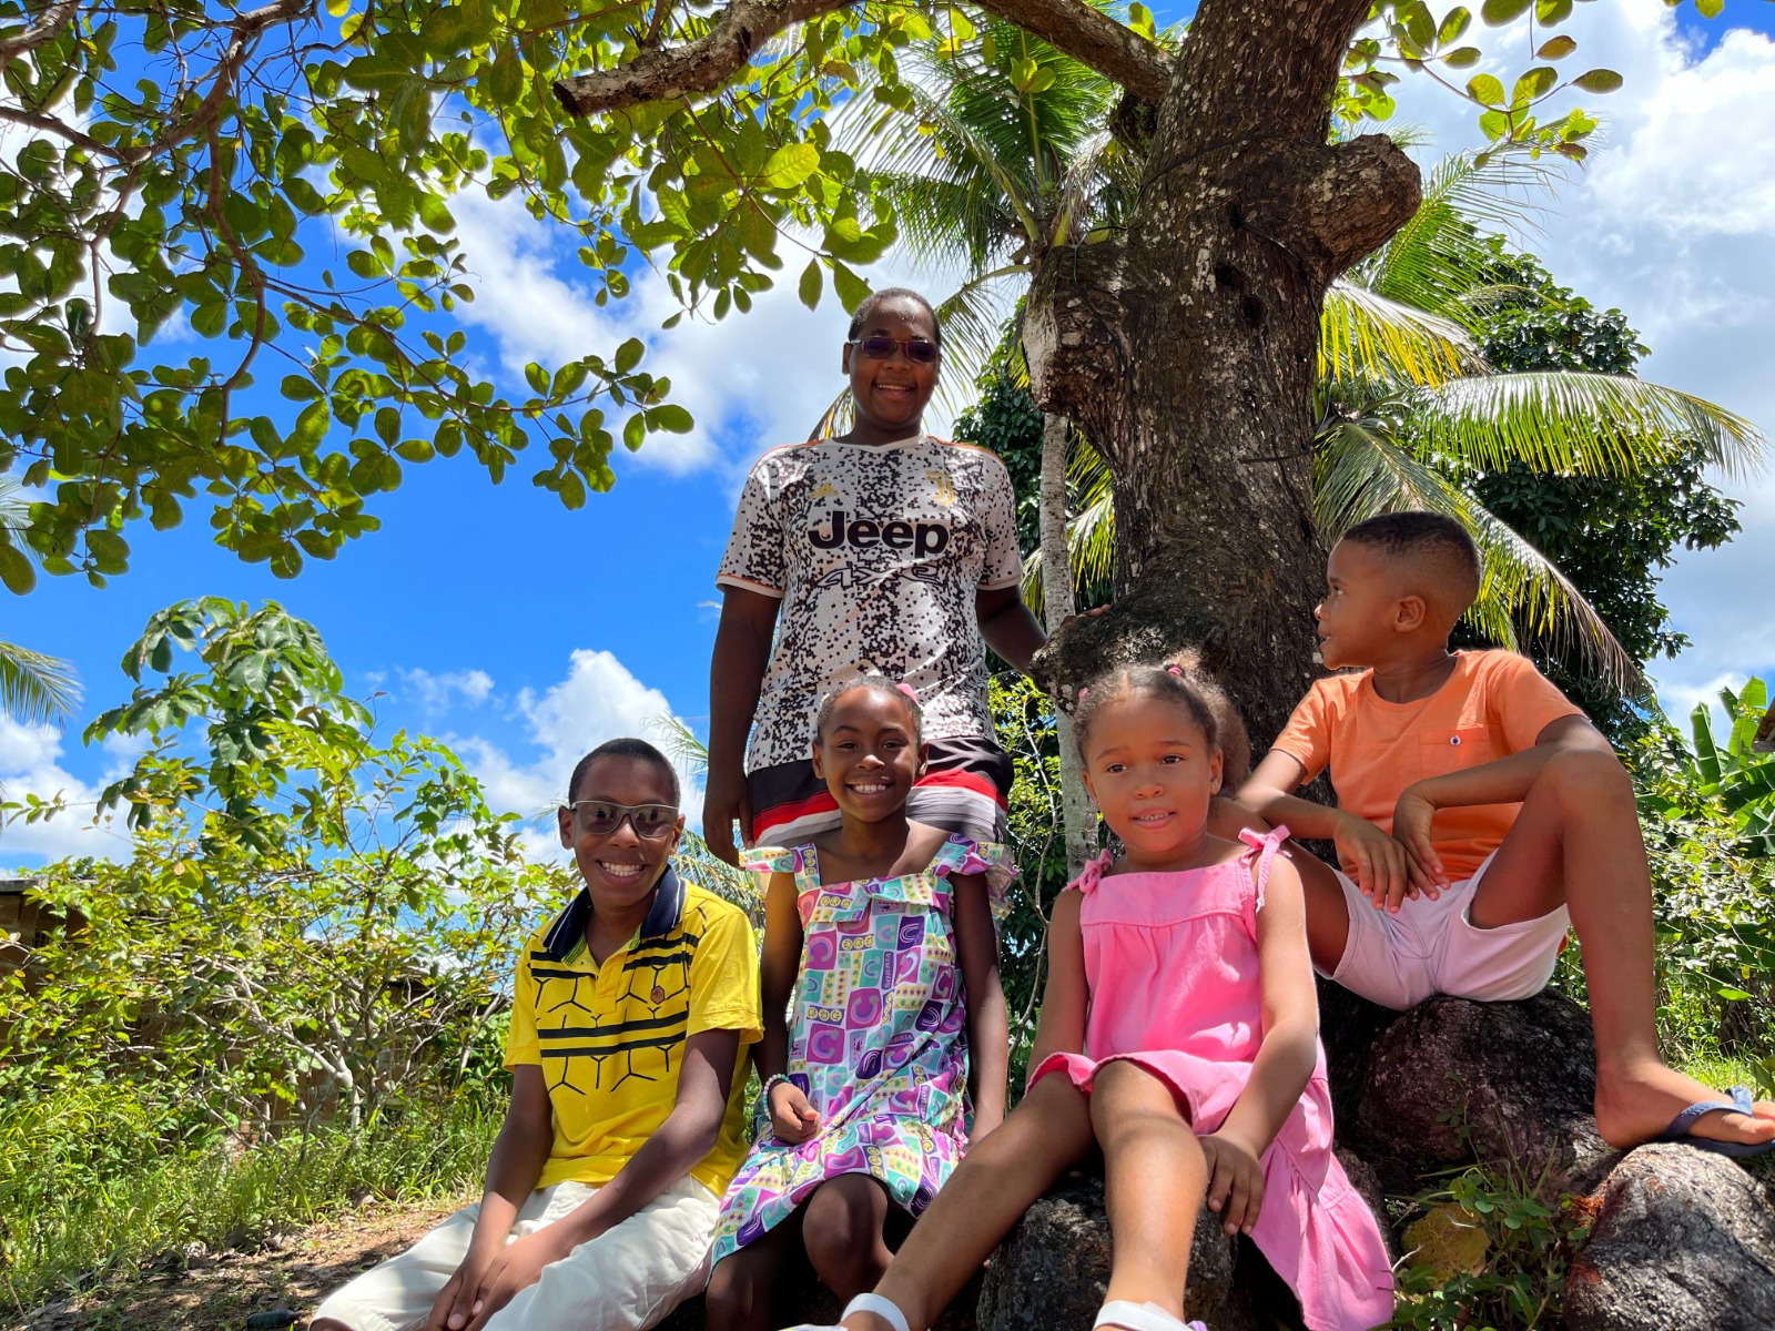
[[[648,50],[618,69],[557,80],[554,89],[572,115],[706,96],[738,73],[753,53],[793,23],[847,9],[856,0],[731,0],[696,41]],[[1154,105],[1172,87],[1172,57],[1127,25],[1085,0],[978,0],[1049,46],[1122,83]]]

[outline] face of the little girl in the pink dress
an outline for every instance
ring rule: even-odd
[[[1221,756],[1184,703],[1129,694],[1092,713],[1083,776],[1129,859],[1164,862],[1207,832]]]

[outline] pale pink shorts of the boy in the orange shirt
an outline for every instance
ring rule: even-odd
[[[1454,884],[1434,902],[1408,896],[1397,914],[1376,910],[1372,898],[1342,870],[1333,870],[1349,907],[1349,941],[1329,980],[1399,1012],[1432,994],[1484,1003],[1539,994],[1553,978],[1571,916],[1560,905],[1539,919],[1479,928],[1468,909],[1491,861],[1487,855],[1471,878]]]

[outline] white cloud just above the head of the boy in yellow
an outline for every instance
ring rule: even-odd
[[[673,715],[671,703],[659,689],[650,689],[609,651],[580,648],[568,674],[541,694],[529,689],[517,697],[532,752],[513,758],[504,747],[479,735],[451,735],[446,742],[481,781],[495,811],[513,811],[525,818],[554,809],[566,795],[573,765],[591,749],[618,735],[639,735],[659,744],[660,722]],[[701,784],[689,768],[680,768],[683,807],[701,807]],[[532,825],[524,834],[534,855],[559,855],[552,825]]]

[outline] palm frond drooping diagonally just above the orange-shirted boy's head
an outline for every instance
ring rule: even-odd
[[[1441,472],[1413,458],[1369,422],[1345,421],[1319,437],[1314,509],[1328,541],[1365,518],[1402,509],[1445,513],[1473,536],[1486,561],[1479,600],[1466,619],[1486,637],[1518,648],[1516,625],[1558,650],[1576,646],[1598,676],[1626,696],[1645,676],[1596,609],[1535,547]]]

